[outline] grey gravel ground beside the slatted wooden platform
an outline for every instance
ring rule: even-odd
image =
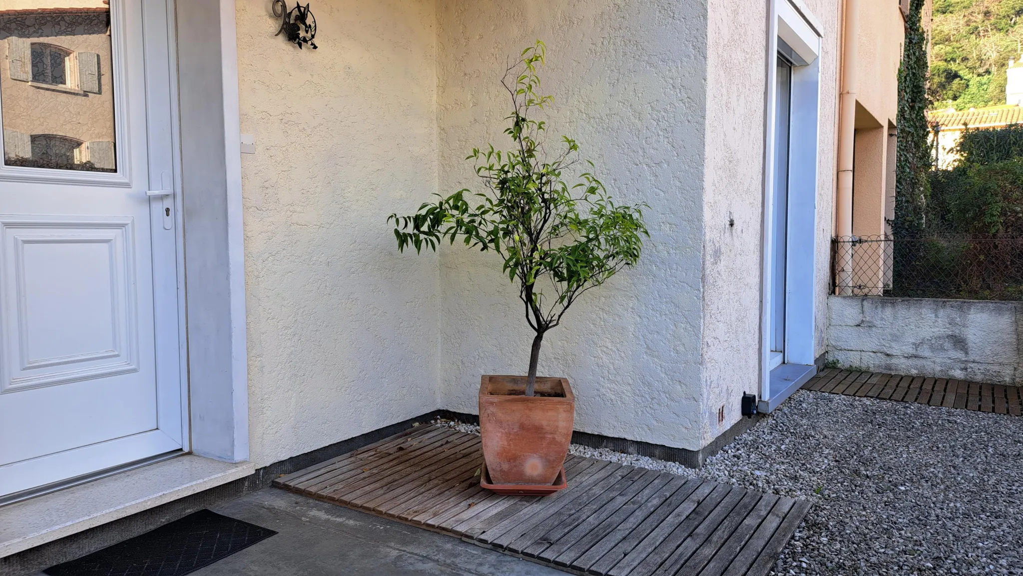
[[[772,574],[1023,576],[1018,416],[800,391],[699,471],[570,452],[812,501]]]

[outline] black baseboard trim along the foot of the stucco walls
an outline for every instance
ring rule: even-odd
[[[238,496],[269,488],[276,479],[293,472],[311,467],[315,463],[335,458],[342,454],[357,450],[388,436],[405,432],[410,428],[427,424],[436,418],[444,418],[479,426],[480,416],[451,410],[434,410],[420,416],[386,426],[384,428],[361,434],[348,440],[336,442],[328,446],[311,450],[287,459],[258,469],[244,478],[239,478],[203,492],[197,492],[177,500],[125,517],[101,526],[72,534],[28,550],[0,558],[0,576],[25,576],[61,564],[106,546],[116,544],[139,534],[144,534],[169,522],[178,520],[201,511],[216,506]],[[690,468],[700,468],[707,458],[716,454],[737,436],[746,432],[759,420],[759,416],[743,418],[724,434],[700,450],[672,448],[660,444],[639,442],[625,438],[613,438],[587,432],[573,432],[572,442],[591,448],[610,448],[627,454],[639,454],[662,460],[681,463]]]

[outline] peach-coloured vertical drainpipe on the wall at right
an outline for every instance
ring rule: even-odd
[[[859,36],[858,0],[845,0],[842,32],[842,92],[839,95],[838,194],[835,198],[835,235],[852,235],[852,159],[856,137],[856,44]],[[852,259],[838,263],[836,283],[852,284]],[[849,289],[839,289],[848,296]]]

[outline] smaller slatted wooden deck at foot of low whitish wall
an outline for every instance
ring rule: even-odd
[[[1017,386],[832,368],[813,376],[802,388],[1014,416],[1023,414],[1023,394]]]

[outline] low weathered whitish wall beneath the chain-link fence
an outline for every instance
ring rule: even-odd
[[[829,299],[828,358],[911,375],[1023,384],[1023,304]]]

